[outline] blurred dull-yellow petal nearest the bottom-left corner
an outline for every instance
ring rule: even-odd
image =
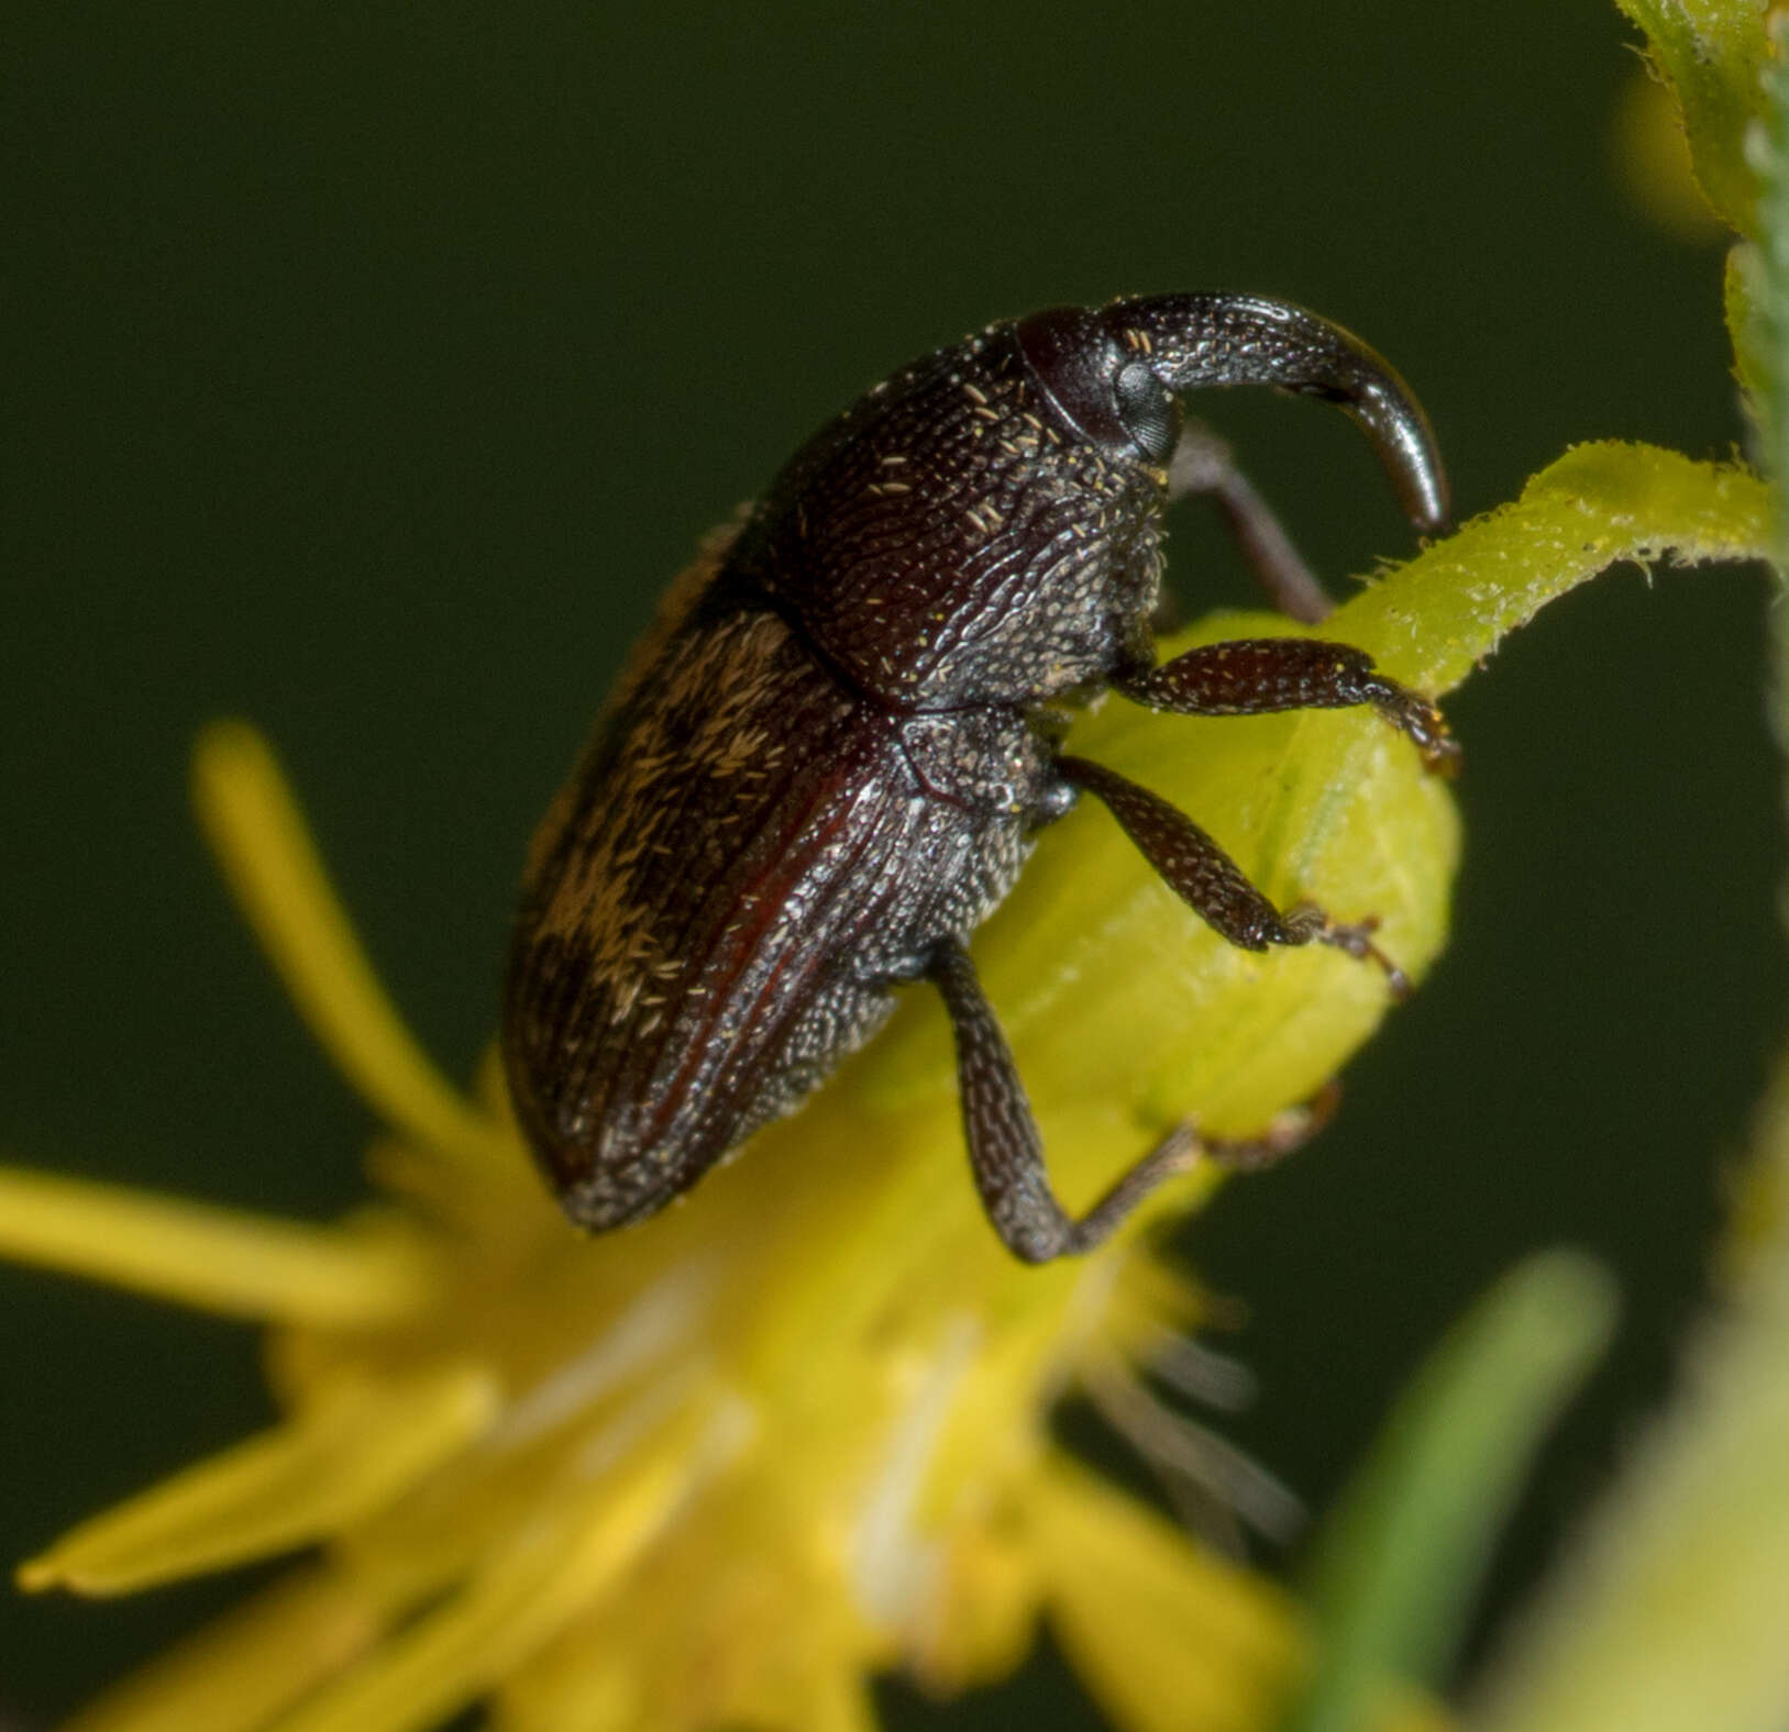
[[[63,1732],[256,1732],[365,1653],[386,1618],[347,1571],[297,1571],[107,1691]]]

